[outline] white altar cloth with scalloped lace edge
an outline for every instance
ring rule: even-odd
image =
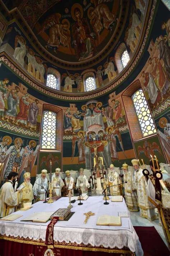
[[[110,197],[111,198],[111,197]],[[79,201],[72,204],[72,212],[74,215],[68,221],[58,221],[54,226],[53,239],[55,241],[66,243],[76,242],[84,243],[92,246],[104,246],[105,248],[124,246],[128,247],[136,255],[143,255],[141,243],[134,230],[129,217],[121,217],[122,226],[99,226],[96,225],[98,216],[114,215],[118,216],[118,211],[126,211],[129,213],[126,203],[111,202],[104,205],[103,196],[89,197],[86,201],[82,201],[83,205],[77,205]],[[33,207],[27,211],[17,211],[14,214],[22,214],[23,216],[12,222],[0,221],[0,234],[10,235],[14,237],[29,237],[30,239],[45,241],[46,228],[50,220],[46,223],[33,223],[31,221],[20,221],[34,212],[55,212],[58,208],[66,208],[69,205],[69,198],[62,197],[53,203],[43,203],[39,201],[33,204]],[[92,211],[94,216],[90,216],[87,223],[84,224],[85,212]]]

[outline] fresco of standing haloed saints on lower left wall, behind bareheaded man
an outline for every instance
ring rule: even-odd
[[[9,172],[23,176],[25,171],[36,175],[39,141],[33,138],[0,131],[0,183],[4,183]]]

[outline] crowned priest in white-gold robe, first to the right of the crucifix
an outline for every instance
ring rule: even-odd
[[[113,186],[121,183],[120,175],[114,170],[114,165],[111,164],[108,169],[109,173],[107,176],[107,185]],[[117,185],[110,188],[110,196],[121,196],[122,194],[121,185]]]

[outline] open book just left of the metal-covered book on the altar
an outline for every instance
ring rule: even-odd
[[[46,223],[54,212],[34,212],[21,221],[33,221]]]

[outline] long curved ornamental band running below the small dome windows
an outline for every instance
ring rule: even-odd
[[[53,92],[53,91],[48,91],[47,89],[35,84],[32,80],[30,80],[27,76],[25,76],[18,68],[15,67],[15,65],[8,59],[5,57],[5,55],[3,55],[0,60],[3,61],[7,66],[9,66],[11,69],[13,69],[13,71],[15,73],[17,73],[23,80],[25,80],[30,86],[32,86],[34,89],[42,92],[43,94],[46,94],[48,96],[51,96],[53,98],[57,98],[57,99],[61,99],[61,100],[76,100],[76,101],[80,101],[80,100],[89,100],[91,98],[96,98],[99,97],[103,94],[108,93],[110,90],[113,90],[116,86],[118,86],[122,81],[124,81],[126,79],[126,77],[131,73],[131,71],[133,70],[133,68],[136,66],[138,60],[140,59],[143,49],[145,48],[145,44],[147,41],[147,36],[148,33],[150,31],[150,26],[151,26],[151,22],[152,22],[152,18],[154,15],[154,10],[155,10],[155,6],[156,6],[157,0],[153,1],[153,5],[152,5],[152,9],[151,9],[151,14],[148,20],[148,24],[147,24],[147,28],[146,28],[146,32],[145,32],[145,37],[143,39],[142,45],[140,50],[138,51],[138,54],[136,56],[136,58],[134,59],[133,63],[131,64],[131,66],[127,69],[127,71],[113,84],[108,85],[108,87],[106,88],[101,88],[100,91],[96,91],[95,93],[91,93],[89,95],[81,95],[81,96],[72,96],[72,95],[63,95],[61,94],[62,92]],[[89,92],[88,92],[89,93]]]

